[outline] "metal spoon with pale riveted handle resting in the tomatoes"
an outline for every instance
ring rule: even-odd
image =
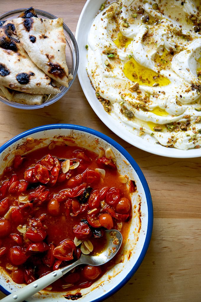
[[[89,264],[89,265],[102,265],[108,261],[110,261],[120,249],[122,243],[122,235],[117,230],[106,230],[106,239],[107,245],[106,249],[98,254],[98,255],[84,255],[82,254],[81,257],[69,264],[64,266],[61,269],[57,269],[52,271],[51,273],[39,278],[36,281],[20,288],[18,291],[8,295],[7,297],[3,298],[2,302],[22,302],[27,298],[33,296],[37,292],[41,291],[43,288],[46,288],[48,285],[52,284],[54,281],[61,278],[65,275],[68,271],[76,267],[80,264]]]

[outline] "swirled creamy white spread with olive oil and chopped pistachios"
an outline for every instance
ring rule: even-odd
[[[112,2],[87,44],[96,95],[121,122],[163,146],[201,147],[201,16],[192,1]]]

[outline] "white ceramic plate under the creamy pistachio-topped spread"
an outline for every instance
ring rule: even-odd
[[[102,104],[97,100],[95,90],[93,89],[86,72],[87,50],[85,46],[87,44],[87,35],[90,30],[90,26],[102,3],[102,0],[86,1],[86,4],[84,5],[83,10],[80,14],[75,34],[80,54],[78,78],[83,92],[92,109],[110,130],[112,130],[123,140],[139,149],[153,154],[173,158],[191,158],[201,156],[201,149],[179,150],[176,148],[167,148],[157,144],[150,137],[138,137],[132,132],[131,127],[129,128],[129,126],[120,121],[118,117],[116,117],[114,114],[108,114],[104,110]]]

